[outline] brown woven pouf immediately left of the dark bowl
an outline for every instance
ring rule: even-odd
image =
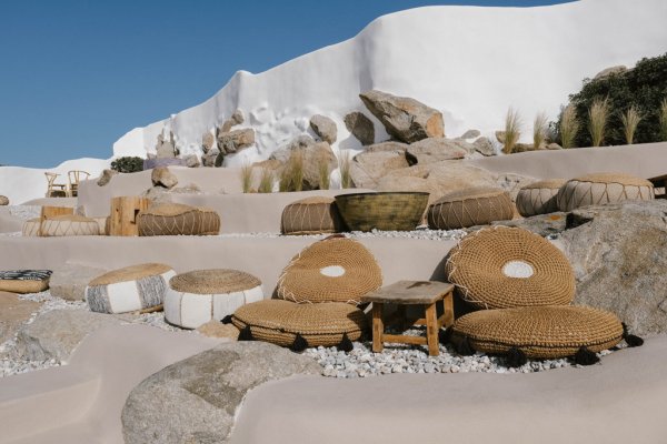
[[[301,199],[287,205],[280,219],[282,234],[337,233],[341,231],[341,226],[342,221],[334,198]]]

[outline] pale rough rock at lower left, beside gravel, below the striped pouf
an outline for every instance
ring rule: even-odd
[[[53,310],[19,330],[17,352],[30,361],[54,359],[66,363],[88,334],[120,323],[115,316],[88,310]]]

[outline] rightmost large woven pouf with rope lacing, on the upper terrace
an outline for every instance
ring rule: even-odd
[[[558,191],[560,211],[601,205],[626,200],[649,201],[655,196],[653,183],[623,173],[595,173],[568,181]]]

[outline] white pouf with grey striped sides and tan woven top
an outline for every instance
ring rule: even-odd
[[[147,263],[126,266],[97,276],[86,287],[86,301],[98,313],[127,313],[159,310],[169,280],[176,275],[169,265]]]

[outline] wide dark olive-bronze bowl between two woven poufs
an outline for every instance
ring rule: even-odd
[[[411,231],[417,228],[428,193],[354,193],[336,196],[340,215],[350,231]]]

